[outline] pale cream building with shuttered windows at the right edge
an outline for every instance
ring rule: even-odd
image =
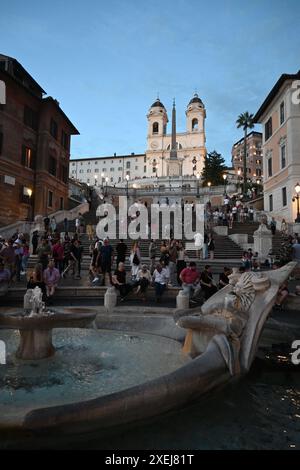
[[[263,128],[264,208],[278,220],[297,217],[300,183],[300,71],[283,74],[254,116]]]

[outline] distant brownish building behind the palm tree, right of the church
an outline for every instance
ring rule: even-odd
[[[262,133],[252,131],[246,139],[246,167],[247,179],[253,183],[261,183],[263,178],[263,159],[262,159]],[[231,161],[235,173],[241,181],[244,177],[244,139],[240,139],[232,146]]]

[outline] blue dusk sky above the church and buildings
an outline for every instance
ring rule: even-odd
[[[157,93],[169,119],[175,97],[184,131],[197,90],[207,149],[230,163],[243,136],[238,114],[255,113],[282,73],[300,69],[299,0],[9,0],[0,8],[0,53],[58,99],[81,134],[72,157],[143,153]]]

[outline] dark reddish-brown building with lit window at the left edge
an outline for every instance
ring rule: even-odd
[[[67,208],[71,135],[57,100],[15,59],[0,55],[0,225]]]

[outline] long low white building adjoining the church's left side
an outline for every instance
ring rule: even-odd
[[[70,178],[91,186],[114,186],[125,180],[146,176],[145,154],[109,157],[75,158],[70,161]]]

